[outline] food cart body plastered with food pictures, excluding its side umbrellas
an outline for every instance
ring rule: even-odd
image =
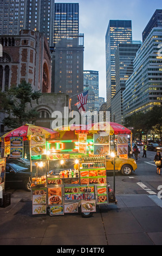
[[[90,217],[97,206],[116,204],[106,175],[109,132],[87,126],[69,130],[61,127],[57,131],[59,138],[47,142],[46,161],[37,161],[44,171],[47,167],[46,180],[38,172],[32,178],[33,215],[78,212],[82,217]]]

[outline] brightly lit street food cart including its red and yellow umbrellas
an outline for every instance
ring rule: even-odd
[[[127,157],[131,133],[126,127],[96,123],[62,126],[56,131],[32,125],[24,128],[4,138],[10,137],[10,157],[22,157],[23,141],[29,141],[33,215],[79,212],[90,217],[97,206],[117,203],[107,180],[106,156],[116,152]],[[113,148],[111,136],[118,136]]]

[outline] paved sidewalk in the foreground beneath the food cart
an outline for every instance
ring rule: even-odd
[[[79,214],[33,216],[29,198],[12,198],[0,208],[0,245],[162,245],[162,200],[157,196],[119,195],[118,205]]]

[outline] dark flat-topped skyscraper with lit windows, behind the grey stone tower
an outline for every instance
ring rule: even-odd
[[[61,37],[79,33],[79,4],[55,3],[54,46]]]

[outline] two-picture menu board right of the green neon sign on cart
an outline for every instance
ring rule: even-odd
[[[94,155],[108,155],[109,148],[109,136],[107,133],[101,132],[94,135]]]

